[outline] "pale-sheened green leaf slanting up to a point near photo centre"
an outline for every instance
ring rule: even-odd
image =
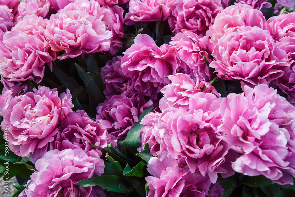
[[[132,153],[136,154],[137,148],[140,147],[140,131],[143,127],[142,124],[140,124],[142,118],[150,113],[150,111],[153,109],[153,105],[148,107],[146,110],[142,112],[142,114],[138,118],[138,122],[134,123],[133,127],[128,131],[126,139],[122,141],[122,145],[127,147],[127,149]]]

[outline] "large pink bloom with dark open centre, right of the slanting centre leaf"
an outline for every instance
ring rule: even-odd
[[[197,92],[189,99],[189,110],[167,108],[160,115],[144,117],[142,122],[152,126],[148,126],[147,131],[160,144],[156,154],[168,151],[172,158],[182,160],[191,173],[199,171],[202,176],[208,175],[212,183],[216,182],[217,173],[222,173],[224,177],[232,175],[233,170],[222,167],[227,165],[225,156],[228,148],[217,137],[220,134],[216,133],[222,123],[219,113],[221,100],[214,94]],[[158,120],[155,119],[157,117]],[[149,121],[149,118],[153,120]]]

